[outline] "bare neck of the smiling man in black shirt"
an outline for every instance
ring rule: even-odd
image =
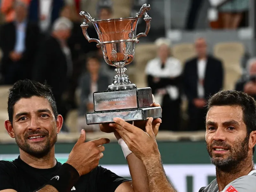
[[[54,147],[46,156],[42,158],[37,158],[34,156],[29,155],[25,151],[20,149],[20,159],[24,161],[26,164],[30,165],[31,167],[35,167],[38,169],[48,169],[52,168],[56,165],[57,161],[54,155]]]

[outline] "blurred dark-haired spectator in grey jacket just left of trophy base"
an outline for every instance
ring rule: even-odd
[[[93,104],[93,92],[105,91],[108,88],[108,76],[104,73],[100,73],[100,60],[97,53],[90,54],[86,60],[87,72],[81,76],[79,89],[80,95],[80,107],[78,117],[78,131],[85,129],[86,132],[100,131],[98,124],[87,125],[85,114],[94,112]]]

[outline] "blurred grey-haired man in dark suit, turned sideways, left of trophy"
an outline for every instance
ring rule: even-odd
[[[60,17],[53,24],[52,35],[42,44],[36,58],[34,80],[52,87],[58,112],[64,120],[67,115],[67,105],[63,94],[67,91],[72,75],[73,64],[67,40],[72,30],[72,22]]]

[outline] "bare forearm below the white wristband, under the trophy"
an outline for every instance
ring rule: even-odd
[[[127,156],[127,162],[132,176],[133,191],[148,192],[148,177],[143,162],[133,153]]]

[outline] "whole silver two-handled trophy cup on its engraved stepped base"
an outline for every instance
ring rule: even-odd
[[[162,116],[160,107],[150,107],[153,102],[151,88],[137,88],[125,74],[125,65],[130,64],[134,58],[135,43],[139,43],[140,37],[147,36],[150,29],[151,17],[148,10],[150,5],[144,4],[136,17],[108,20],[94,20],[89,13],[80,12],[80,16],[84,18],[81,24],[84,37],[89,43],[96,42],[108,65],[116,67],[116,76],[108,90],[93,93],[94,113],[86,114],[87,124],[110,123],[114,117],[136,121]],[[147,23],[146,30],[136,35],[138,19],[143,15]],[[99,40],[88,36],[88,22],[94,25]]]

